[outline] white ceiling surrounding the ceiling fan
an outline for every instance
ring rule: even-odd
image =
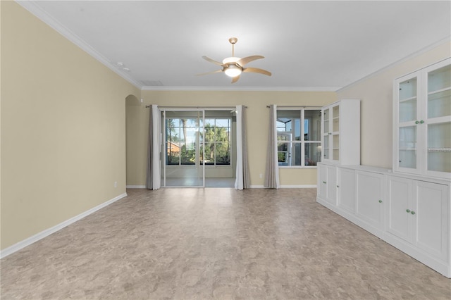
[[[451,1],[19,3],[143,89],[336,90],[451,35]],[[231,56],[230,37],[273,75],[197,76],[220,68],[202,56]]]

